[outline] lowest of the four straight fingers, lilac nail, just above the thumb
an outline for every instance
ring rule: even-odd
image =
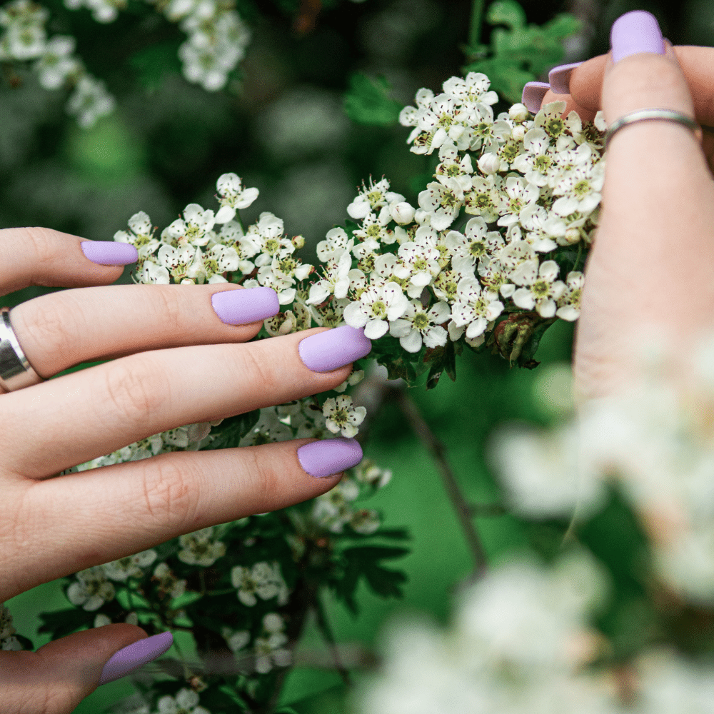
[[[17,555],[21,562],[10,557],[3,565],[0,597],[184,533],[315,498],[361,459],[354,439],[300,439],[174,451],[48,481],[13,483],[6,492],[20,506],[3,530],[6,540],[23,548]]]

